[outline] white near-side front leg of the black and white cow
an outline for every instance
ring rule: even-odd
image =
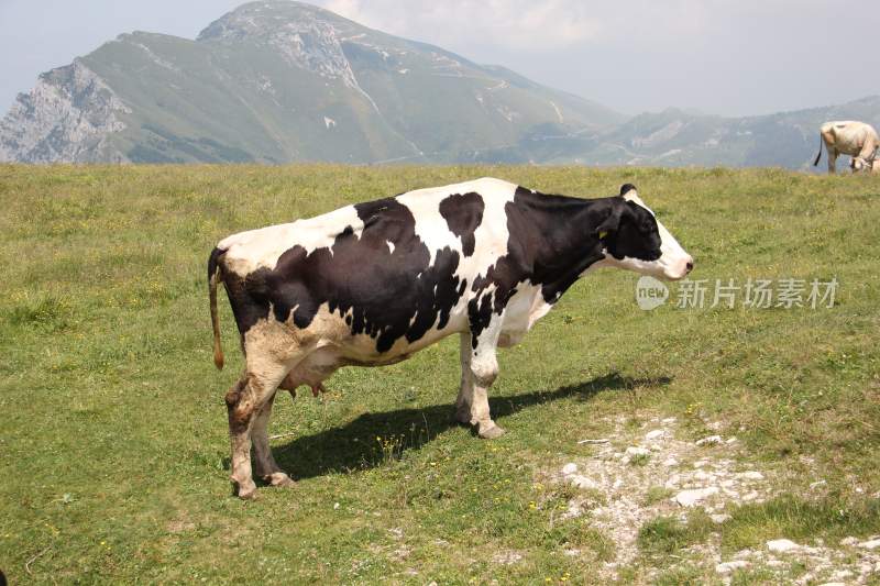
[[[501,323],[502,317],[493,316],[488,327],[479,334],[471,334],[468,351],[471,378],[469,422],[484,440],[494,440],[504,433],[492,420],[488,409],[488,389],[498,376],[496,349]]]

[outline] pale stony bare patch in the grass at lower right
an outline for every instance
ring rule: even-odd
[[[702,568],[729,583],[737,573],[758,573],[771,581],[796,584],[864,584],[880,576],[880,540],[848,538],[832,548],[814,540],[795,543],[780,535],[762,549],[724,555],[722,526],[744,504],[760,504],[782,495],[784,474],[761,469],[749,462],[736,436],[715,433],[697,440],[681,439],[674,418],[652,418],[640,427],[614,421],[606,438],[585,440],[593,455],[565,463],[549,473],[552,482],[575,490],[564,518],[584,517],[613,540],[615,557],[604,564],[607,579],[637,563],[639,532],[657,519],[686,524],[695,515],[708,516],[713,530],[704,542],[676,552],[681,567]],[[708,429],[721,429],[708,423]],[[648,571],[656,577],[659,571]]]

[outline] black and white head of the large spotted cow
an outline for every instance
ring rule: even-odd
[[[596,228],[607,266],[663,279],[682,279],[693,269],[693,257],[661,224],[636,187],[625,185],[612,199],[608,217]]]

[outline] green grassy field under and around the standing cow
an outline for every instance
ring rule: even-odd
[[[241,356],[221,296],[228,366],[211,361],[213,244],[484,175],[581,197],[634,183],[695,256],[693,279],[836,277],[835,307],[648,312],[637,275],[594,273],[499,353],[502,439],[451,423],[450,339],[396,366],[342,369],[319,399],[279,397],[270,433],[283,435],[276,458],[298,484],[234,498],[223,394]],[[845,582],[880,583],[880,566],[859,574],[868,550],[845,539],[880,533],[877,179],[0,165],[0,570],[11,584],[757,584],[822,582],[838,567],[761,554],[716,570],[779,538],[839,554],[839,567],[856,567]],[[670,504],[678,488],[663,484],[659,455],[619,457],[659,425],[669,439],[657,454],[760,471],[759,498],[715,501],[728,516],[716,520]],[[724,443],[694,445],[711,434]],[[566,463],[618,471],[615,490],[642,495],[656,517],[639,518],[627,545],[590,510],[617,497],[566,483]],[[583,512],[561,512],[573,504]]]

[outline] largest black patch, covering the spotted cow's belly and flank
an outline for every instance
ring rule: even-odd
[[[400,338],[414,342],[429,329],[447,325],[464,290],[454,276],[459,253],[436,251],[429,266],[431,255],[415,233],[415,218],[396,199],[355,209],[364,222],[360,237],[348,226],[330,247],[307,254],[296,245],[280,255],[275,268],[229,279],[242,333],[265,319],[270,307],[276,320],[293,319],[297,328],[308,328],[322,303],[345,316],[353,334],[376,339],[380,353]],[[394,244],[393,253],[387,242]]]

